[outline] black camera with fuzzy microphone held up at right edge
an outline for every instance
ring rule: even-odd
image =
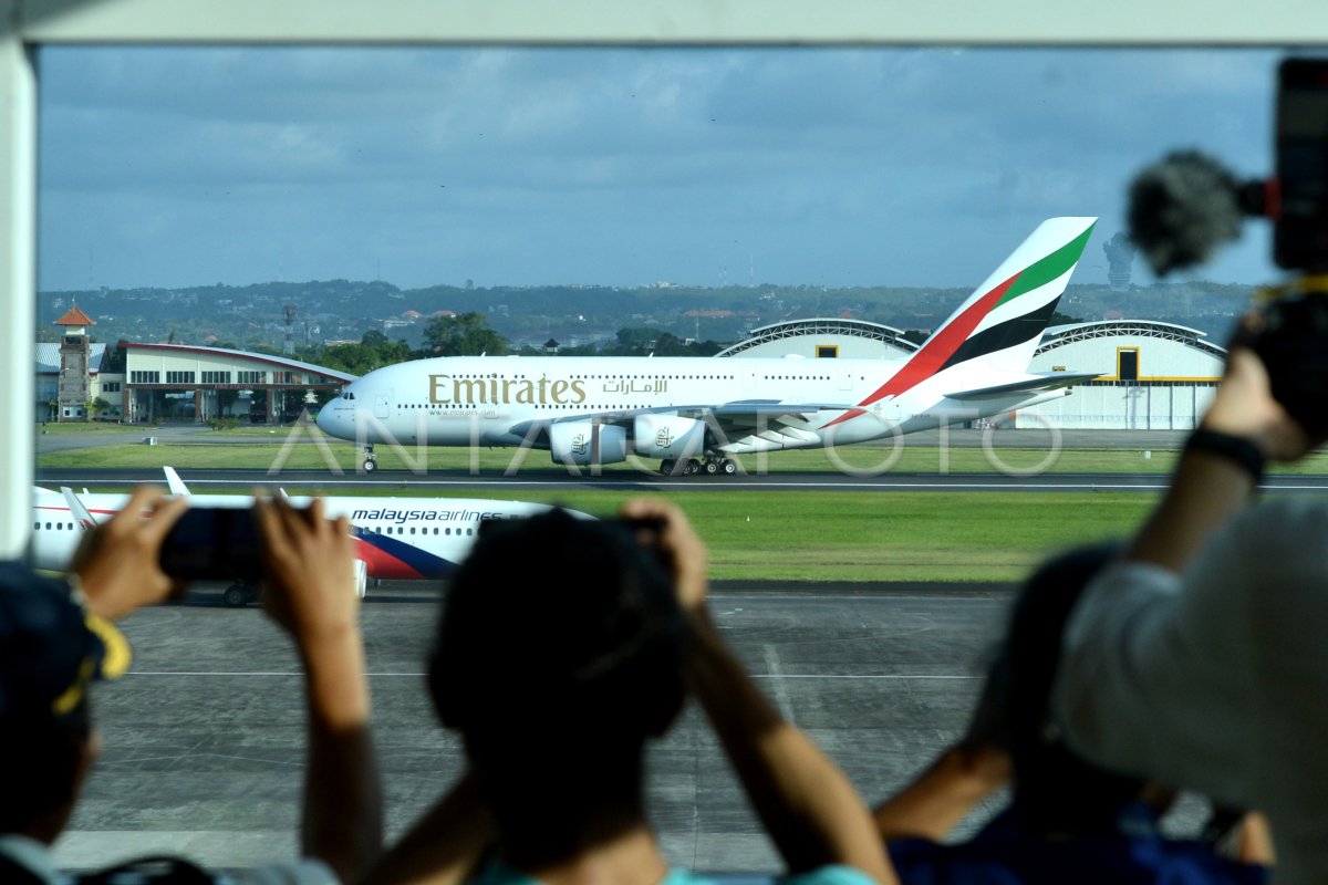
[[[1328,433],[1328,60],[1278,69],[1276,174],[1239,180],[1218,161],[1178,151],[1130,186],[1130,240],[1158,276],[1235,240],[1247,216],[1274,224],[1274,260],[1303,276],[1275,292],[1232,344],[1268,369],[1272,395],[1305,430]]]

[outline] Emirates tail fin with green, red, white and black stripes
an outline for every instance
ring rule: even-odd
[[[967,362],[1020,373],[1070,281],[1096,218],[1052,218],[1005,259],[866,403]]]

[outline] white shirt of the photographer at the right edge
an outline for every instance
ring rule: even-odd
[[[1053,710],[1078,751],[1263,811],[1276,882],[1328,882],[1328,506],[1252,507],[1179,576],[1109,567],[1064,653]]]

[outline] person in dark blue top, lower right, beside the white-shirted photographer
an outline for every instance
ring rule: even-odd
[[[1158,819],[1170,795],[1089,763],[1050,719],[1065,624],[1118,552],[1080,548],[1033,573],[1011,608],[968,734],[876,809],[904,885],[1264,881],[1263,868],[1219,856],[1207,841],[1163,837]],[[943,844],[1007,780],[1009,804],[972,839]]]

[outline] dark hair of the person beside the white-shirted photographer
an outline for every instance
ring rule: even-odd
[[[1065,625],[1085,586],[1118,552],[1117,544],[1082,547],[1038,568],[1015,601],[992,666],[995,683],[1004,683],[1015,812],[1025,828],[1037,833],[1109,831],[1121,807],[1138,797],[1143,785],[1076,755],[1050,716]]]

